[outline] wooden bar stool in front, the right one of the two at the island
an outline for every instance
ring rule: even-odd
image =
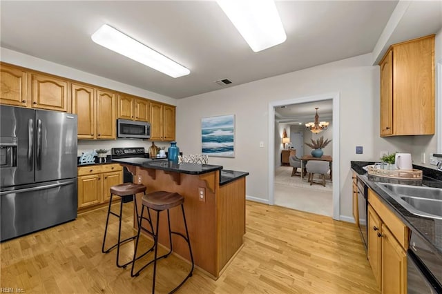
[[[177,291],[177,289],[180,288],[180,286],[182,286],[182,284],[184,284],[184,282],[186,282],[186,280],[189,277],[192,276],[193,268],[194,268],[195,264],[193,262],[191,242],[189,240],[189,231],[187,229],[186,215],[184,214],[184,206],[183,206],[183,204],[184,204],[184,197],[182,197],[182,195],[180,195],[178,193],[171,193],[171,192],[166,192],[166,191],[156,191],[156,192],[153,192],[153,193],[148,193],[148,194],[144,195],[143,198],[142,198],[142,210],[141,210],[141,215],[140,215],[140,218],[139,218],[140,222],[138,223],[137,241],[135,242],[135,252],[133,253],[133,262],[132,262],[131,275],[132,275],[132,277],[136,277],[136,276],[140,275],[140,272],[144,268],[146,268],[146,266],[148,266],[149,264],[153,263],[152,293],[155,293],[155,275],[156,275],[156,271],[157,271],[157,260],[168,257],[172,253],[172,251],[173,251],[173,248],[172,248],[172,234],[179,235],[184,240],[186,240],[187,245],[189,246],[189,253],[191,255],[192,267],[191,267],[191,271],[184,278],[184,280],[182,280],[182,282],[178,286],[176,286],[170,293],[173,293],[173,292]],[[169,215],[169,209],[174,208],[175,206],[179,206],[179,205],[181,206],[182,218],[183,218],[183,221],[184,221],[184,228],[186,228],[186,235],[185,236],[182,233],[171,231],[171,217]],[[144,208],[147,208],[148,218],[143,216]],[[156,223],[155,231],[153,230],[153,224],[152,224],[152,218],[151,218],[150,209],[153,209],[153,210],[155,210],[157,212],[157,223]],[[166,253],[165,255],[157,257],[158,225],[159,225],[159,222],[160,222],[160,212],[162,212],[163,210],[167,210],[167,222],[168,222],[168,225],[169,225],[169,246],[170,246],[170,251],[168,253]],[[150,224],[151,231],[148,231],[147,228],[144,228],[142,226],[142,220],[143,219],[145,219],[148,222],[148,224]],[[140,257],[136,257],[137,256],[138,241],[140,240],[140,232],[141,231],[144,231],[144,232],[148,233],[149,235],[151,235],[153,237],[153,246],[146,253],[148,253],[148,252],[153,250],[154,251],[154,257],[153,257],[153,259],[150,262],[148,262],[148,264],[145,264],[142,268],[140,268],[139,271],[137,271],[136,273],[133,273],[134,266],[135,266],[135,260],[137,260],[137,259],[139,259],[141,257],[141,256]],[[143,255],[145,255],[146,253],[144,253]]]

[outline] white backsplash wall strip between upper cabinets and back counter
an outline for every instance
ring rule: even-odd
[[[169,142],[155,141],[155,145],[158,147],[169,148]],[[81,156],[81,153],[96,150],[107,149],[107,155],[111,155],[111,148],[117,147],[143,147],[145,152],[148,153],[149,147],[152,146],[152,141],[143,139],[116,139],[116,140],[78,140],[77,144],[77,156]]]

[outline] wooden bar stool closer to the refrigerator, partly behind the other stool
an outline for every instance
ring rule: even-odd
[[[125,242],[133,240],[137,237],[137,235],[135,235],[133,237],[128,237],[127,239],[121,240],[123,202],[128,197],[132,197],[134,199],[135,213],[137,215],[137,222],[138,222],[139,216],[138,216],[138,210],[137,210],[137,202],[135,200],[135,194],[137,194],[137,193],[144,193],[144,195],[146,195],[146,186],[144,186],[142,184],[124,183],[124,184],[119,184],[119,185],[115,185],[115,186],[111,187],[111,199],[109,200],[108,216],[106,218],[106,228],[104,229],[102,253],[109,253],[113,248],[117,247],[117,262],[116,262],[116,264],[117,264],[117,267],[119,267],[119,268],[126,268],[126,266],[128,264],[131,264],[133,262],[133,260],[131,260],[130,262],[126,262],[126,264],[119,264],[119,246],[121,244],[124,244]],[[111,211],[113,196],[119,196],[121,198],[121,201],[119,204],[119,215],[117,213],[114,213],[113,211]],[[104,249],[104,246],[106,243],[106,235],[108,232],[109,215],[115,215],[119,219],[118,242],[117,242],[117,244],[114,244],[110,248]]]

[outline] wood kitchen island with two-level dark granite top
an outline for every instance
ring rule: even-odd
[[[128,168],[135,183],[144,184],[146,193],[157,190],[180,193],[184,197],[187,226],[195,265],[218,278],[242,248],[245,233],[245,177],[247,172],[223,170],[209,164],[173,164],[145,158],[114,159]],[[141,211],[142,194],[137,195]],[[173,231],[184,232],[180,209],[171,209]],[[155,220],[155,213],[151,215]],[[136,228],[136,222],[134,227]],[[155,225],[154,225],[155,226]],[[167,214],[160,214],[159,241],[169,245]],[[173,238],[173,251],[190,260],[182,238]]]

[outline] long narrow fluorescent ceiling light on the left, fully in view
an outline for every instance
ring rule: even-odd
[[[139,41],[124,35],[111,26],[104,24],[91,36],[92,40],[110,50],[144,64],[154,70],[165,73],[171,77],[189,75],[189,69],[184,68],[172,59],[148,48]]]

